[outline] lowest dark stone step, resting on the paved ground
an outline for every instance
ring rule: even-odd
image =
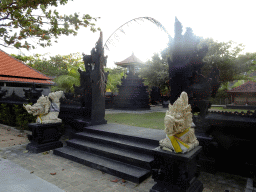
[[[55,149],[53,154],[134,183],[141,183],[151,174],[149,170],[91,154],[69,146]]]

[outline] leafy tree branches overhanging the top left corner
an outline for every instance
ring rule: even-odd
[[[58,3],[59,2],[59,3]],[[95,32],[94,21],[86,14],[80,17],[60,15],[52,7],[67,4],[68,0],[2,0],[0,3],[0,45],[27,50],[35,48],[27,39],[42,47],[51,46],[52,38],[60,35],[76,35],[79,27],[90,27]],[[55,41],[57,42],[57,41]]]

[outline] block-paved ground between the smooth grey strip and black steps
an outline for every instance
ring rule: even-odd
[[[37,176],[64,191],[146,192],[155,183],[151,177],[139,185],[123,181],[115,176],[55,156],[52,151],[32,154],[27,152],[25,147],[26,144],[3,148],[0,152],[0,158],[21,166],[34,177]],[[0,161],[0,167],[1,163],[2,161]],[[5,176],[3,172],[0,173],[0,178]],[[204,192],[224,192],[225,190],[242,192],[246,185],[246,178],[226,173],[213,175],[201,172],[199,180],[204,184]]]

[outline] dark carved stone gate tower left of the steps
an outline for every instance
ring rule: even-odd
[[[104,56],[103,35],[91,50],[91,55],[83,54],[86,71],[80,73],[80,86],[74,87],[74,96],[61,99],[60,118],[75,132],[78,127],[105,124],[105,86],[108,72],[104,72],[107,56]],[[79,124],[79,126],[77,126]]]

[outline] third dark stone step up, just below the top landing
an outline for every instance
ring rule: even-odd
[[[135,152],[143,154],[152,154],[152,149],[158,147],[158,145],[150,144],[137,139],[132,139],[131,137],[116,137],[108,134],[99,134],[99,133],[89,133],[89,132],[80,132],[76,133],[73,136],[73,139],[79,140],[88,140],[102,145],[108,145],[113,147],[118,147],[122,150],[132,150]]]

